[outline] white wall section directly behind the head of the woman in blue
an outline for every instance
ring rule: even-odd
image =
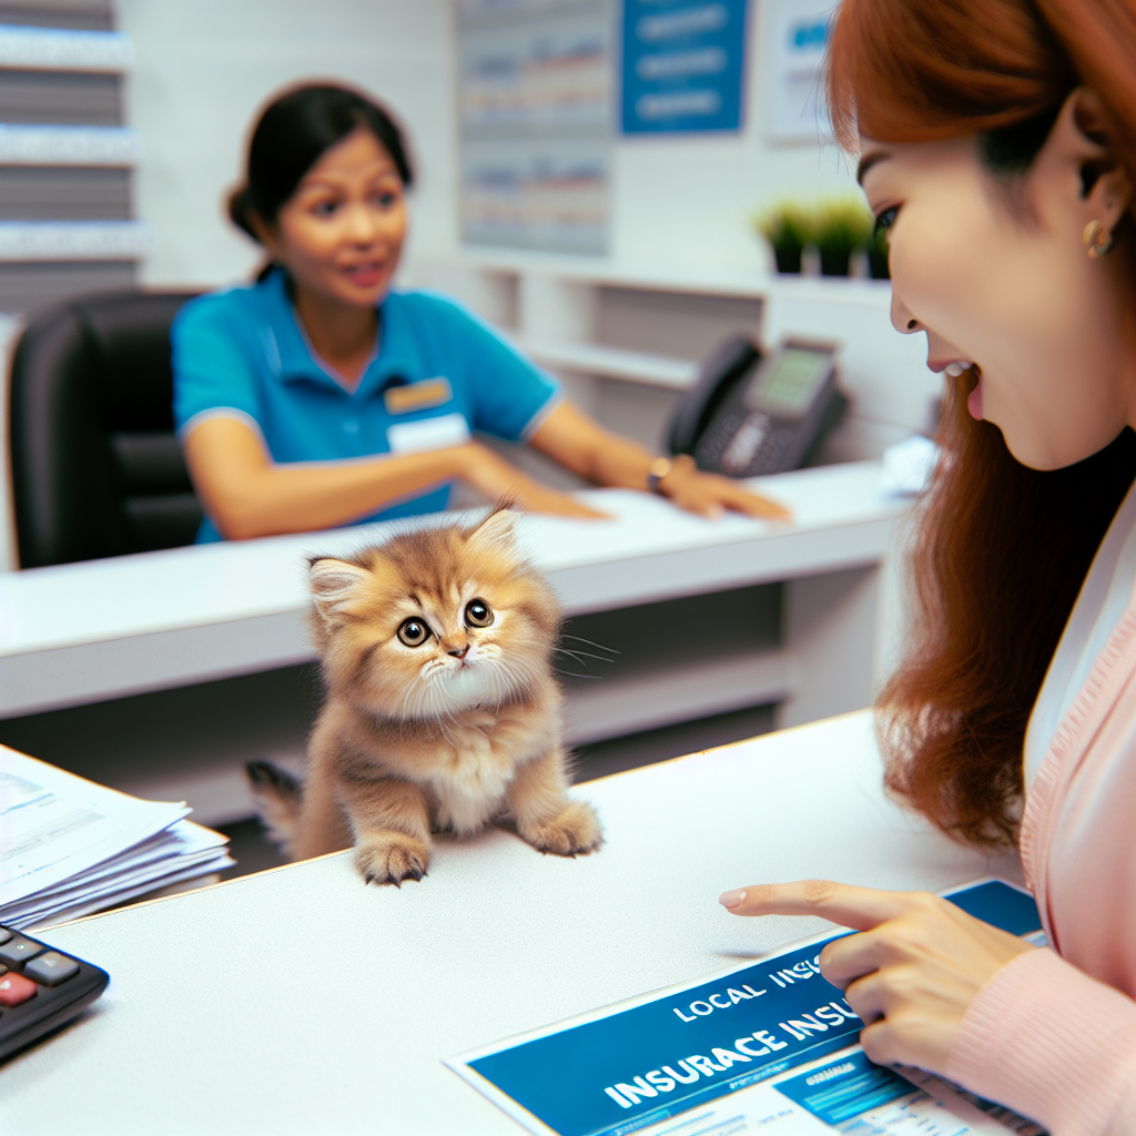
[[[158,245],[151,286],[247,278],[256,247],[223,212],[257,109],[284,84],[336,78],[403,119],[418,157],[414,250],[456,240],[452,23],[448,0],[116,0],[134,40],[126,120],[144,153],[137,216]]]

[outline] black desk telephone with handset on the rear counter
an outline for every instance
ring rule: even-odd
[[[847,409],[835,353],[835,344],[803,340],[766,357],[745,337],[722,343],[675,411],[671,453],[730,477],[797,469]]]

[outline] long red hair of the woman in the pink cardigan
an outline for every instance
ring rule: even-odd
[[[1055,115],[1078,85],[1104,107],[1136,185],[1136,0],[844,0],[828,58],[837,140],[989,135]],[[1044,120],[1044,118],[1043,118]],[[1126,218],[1130,224],[1131,218]],[[1011,843],[1022,741],[1045,670],[1136,476],[1126,429],[1047,473],[1006,450],[949,389],[939,462],[911,554],[907,659],[877,704],[888,787],[943,830]]]

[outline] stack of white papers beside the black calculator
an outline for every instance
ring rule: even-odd
[[[232,867],[192,810],[0,746],[0,924],[47,927]]]

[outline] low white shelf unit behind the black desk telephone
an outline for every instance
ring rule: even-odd
[[[927,427],[939,393],[922,336],[891,325],[886,281],[466,250],[410,264],[403,285],[458,296],[553,371],[583,409],[653,449],[700,360],[730,334],[840,344],[851,409],[828,460],[878,458]]]

